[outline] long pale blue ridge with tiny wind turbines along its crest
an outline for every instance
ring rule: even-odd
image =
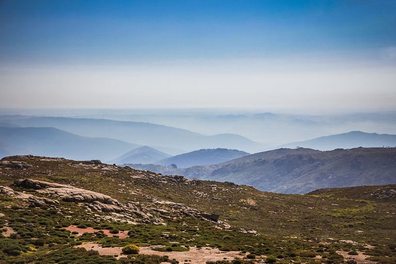
[[[139,145],[157,146],[156,149],[171,155],[202,148],[232,148],[249,152],[257,152],[264,149],[260,143],[236,134],[205,136],[186,129],[142,122],[65,117],[33,117],[26,119],[18,117],[18,119],[7,119],[3,122],[23,127],[55,127],[85,137],[104,137]],[[164,150],[158,146],[168,149]],[[169,148],[178,149],[178,151],[170,153]]]

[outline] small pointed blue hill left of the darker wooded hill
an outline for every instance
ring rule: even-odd
[[[126,154],[109,161],[110,164],[125,164],[125,163],[142,163],[150,164],[155,163],[158,160],[170,157],[171,155],[164,152],[158,151],[148,146],[139,147],[133,149]]]

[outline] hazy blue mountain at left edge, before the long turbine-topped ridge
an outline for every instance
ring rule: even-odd
[[[81,137],[53,127],[0,127],[2,156],[34,154],[77,160],[110,160],[139,145],[107,138]]]

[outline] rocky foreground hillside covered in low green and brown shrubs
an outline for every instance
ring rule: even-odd
[[[0,162],[0,263],[391,264],[395,204],[395,185],[285,195],[12,156]],[[122,253],[131,243],[141,254]]]

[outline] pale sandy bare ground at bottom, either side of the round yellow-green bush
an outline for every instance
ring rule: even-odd
[[[114,248],[102,248],[94,243],[85,243],[79,246],[78,248],[85,248],[87,250],[96,250],[100,255],[119,255],[117,258],[122,257],[122,248],[114,247]],[[184,252],[160,252],[150,249],[149,247],[140,248],[140,254],[147,255],[159,255],[169,256],[169,259],[176,259],[180,263],[184,263],[185,260],[190,260],[191,264],[205,264],[207,261],[218,261],[227,258],[227,260],[233,260],[235,258],[242,258],[243,256],[239,255],[240,251],[220,251],[218,248],[190,248],[189,251]]]

